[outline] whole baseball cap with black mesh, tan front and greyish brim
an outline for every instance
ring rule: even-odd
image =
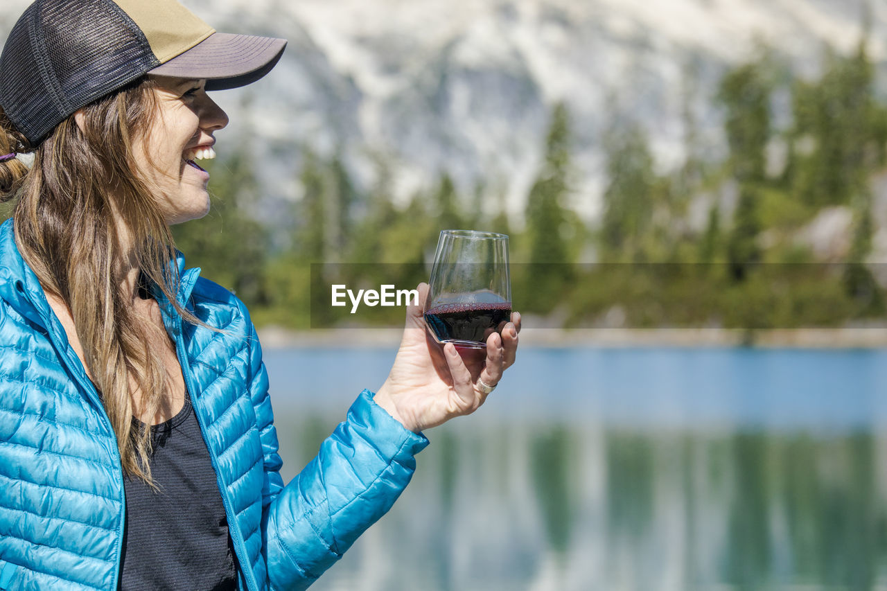
[[[0,55],[0,107],[37,146],[77,109],[145,74],[253,83],[284,39],[217,33],[176,0],[36,0]]]

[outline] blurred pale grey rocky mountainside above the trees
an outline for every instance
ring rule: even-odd
[[[868,51],[887,94],[880,0],[185,0],[218,30],[286,37],[279,67],[218,94],[232,115],[219,152],[255,154],[271,201],[298,199],[305,147],[339,153],[357,185],[379,162],[404,201],[448,171],[483,181],[520,217],[554,104],[569,106],[573,207],[600,209],[600,138],[614,121],[647,130],[657,165],[685,158],[687,121],[704,154],[724,154],[714,88],[726,67],[773,47],[815,75],[826,44]],[[0,35],[27,2],[4,0]],[[688,114],[688,115],[687,115]],[[487,200],[491,205],[496,199]],[[271,208],[270,210],[273,210]]]

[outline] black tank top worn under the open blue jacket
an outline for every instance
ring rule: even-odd
[[[123,478],[120,588],[233,591],[237,567],[228,519],[190,399],[151,431],[151,474],[160,490],[139,478]]]

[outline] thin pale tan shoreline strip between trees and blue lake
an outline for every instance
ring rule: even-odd
[[[257,330],[265,349],[396,348],[401,327]],[[885,349],[887,325],[835,328],[538,328],[524,327],[521,346],[532,348],[676,347],[757,349]]]

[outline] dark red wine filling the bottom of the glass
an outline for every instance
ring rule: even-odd
[[[486,343],[511,319],[511,302],[444,303],[425,312],[425,322],[440,342]]]

